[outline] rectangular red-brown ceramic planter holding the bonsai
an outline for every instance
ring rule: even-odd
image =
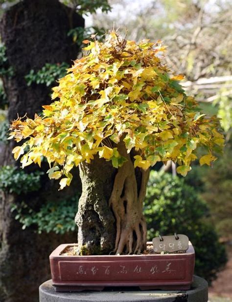
[[[56,291],[102,290],[105,286],[186,290],[193,280],[195,252],[191,243],[184,254],[60,255],[74,245],[61,244],[49,257]]]

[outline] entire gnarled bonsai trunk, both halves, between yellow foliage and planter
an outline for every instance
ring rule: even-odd
[[[75,218],[80,255],[139,254],[146,246],[142,206],[149,171],[134,168],[123,142],[117,148],[127,159],[118,169],[97,157],[80,165],[82,195]]]

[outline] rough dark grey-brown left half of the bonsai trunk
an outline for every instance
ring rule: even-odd
[[[82,195],[75,222],[80,255],[109,254],[114,250],[115,218],[109,207],[116,169],[97,156],[80,165]]]

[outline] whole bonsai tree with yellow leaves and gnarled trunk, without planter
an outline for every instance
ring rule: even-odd
[[[136,43],[113,31],[105,43],[83,42],[85,54],[53,88],[54,102],[34,119],[12,122],[10,138],[23,140],[14,157],[23,155],[22,167],[45,157],[60,189],[79,166],[80,255],[140,253],[149,167],[172,160],[185,176],[199,146],[200,164],[211,165],[224,144],[219,120],[201,114],[179,85],[183,75],[162,64],[160,41]]]

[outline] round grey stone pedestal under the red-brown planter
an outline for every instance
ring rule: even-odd
[[[207,302],[208,283],[195,276],[191,289],[186,291],[144,290],[128,287],[108,287],[101,292],[55,292],[52,281],[44,282],[39,289],[40,302]]]

